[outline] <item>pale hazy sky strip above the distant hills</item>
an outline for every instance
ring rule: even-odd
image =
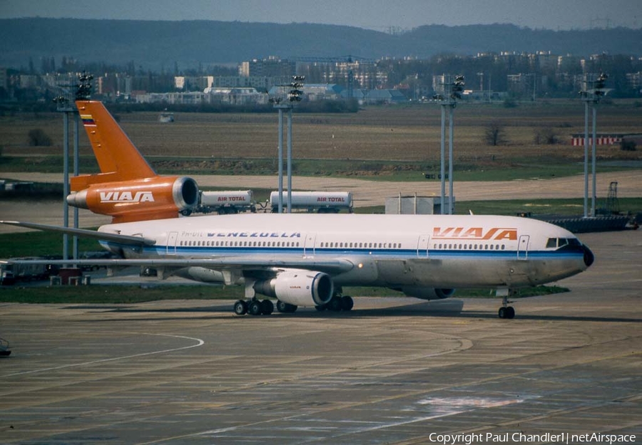
[[[473,23],[642,27],[642,0],[0,0],[0,18],[330,23],[377,31]]]

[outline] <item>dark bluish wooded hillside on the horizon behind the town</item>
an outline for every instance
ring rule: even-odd
[[[0,66],[39,68],[41,57],[71,56],[151,69],[236,63],[267,56],[382,58],[485,51],[642,55],[642,29],[549,31],[513,25],[421,26],[400,36],[314,23],[0,20]]]

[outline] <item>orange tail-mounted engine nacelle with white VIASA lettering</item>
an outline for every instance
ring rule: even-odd
[[[113,223],[175,218],[198,204],[198,185],[188,177],[98,182],[67,197],[70,206],[113,216]]]

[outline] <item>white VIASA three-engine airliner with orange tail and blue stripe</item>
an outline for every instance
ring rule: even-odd
[[[108,138],[96,142],[90,133],[93,131],[97,138],[96,127],[101,127],[111,115],[101,114],[102,104],[93,101],[78,102],[78,109],[81,115],[83,111],[91,112],[83,120],[91,122],[85,125],[94,152],[111,150]],[[128,156],[132,155],[131,147]],[[139,220],[132,221],[127,212],[118,210],[113,213],[117,222],[101,226],[98,231],[1,222],[91,236],[121,258],[73,261],[77,264],[151,266],[158,268],[164,277],[175,275],[245,286],[245,300],[234,305],[238,315],[272,313],[272,302],[259,300],[257,294],[277,298],[280,312],[294,312],[298,306],[350,310],[353,300],[344,294],[344,288],[382,286],[425,300],[448,298],[455,288],[494,288],[497,295],[504,297],[499,317],[514,318],[514,308],[508,305],[509,290],[558,281],[585,271],[593,263],[591,250],[566,229],[513,216],[178,217],[180,206],[192,201],[193,184],[188,178],[171,178],[168,182],[168,193],[173,194],[177,203],[173,209],[176,217],[166,217],[167,203],[163,201],[163,219],[149,219],[149,206],[161,201],[156,197],[156,189],[146,189],[143,179],[134,179],[136,184],[143,184],[141,188],[132,187],[128,182],[133,180],[131,177],[116,178],[121,180],[117,183],[100,182],[101,175],[110,174],[102,165],[101,170],[101,174],[81,179],[78,182],[81,186],[76,187],[76,194],[70,195],[68,201],[91,208],[95,196],[96,201],[102,201],[96,208],[111,206],[107,201],[116,207],[131,205],[133,214],[140,210]],[[158,179],[162,177],[154,178],[162,182]],[[93,189],[96,184],[100,188]],[[181,191],[180,187],[187,189]],[[136,196],[145,199],[133,199]],[[111,210],[101,209],[112,214],[108,213]]]

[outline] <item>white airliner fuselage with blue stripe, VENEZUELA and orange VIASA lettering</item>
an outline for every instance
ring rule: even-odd
[[[99,230],[156,240],[136,248],[103,244],[126,258],[350,261],[354,267],[332,276],[340,286],[519,288],[572,276],[593,261],[566,229],[512,216],[240,214]],[[208,276],[219,279],[196,279]]]

